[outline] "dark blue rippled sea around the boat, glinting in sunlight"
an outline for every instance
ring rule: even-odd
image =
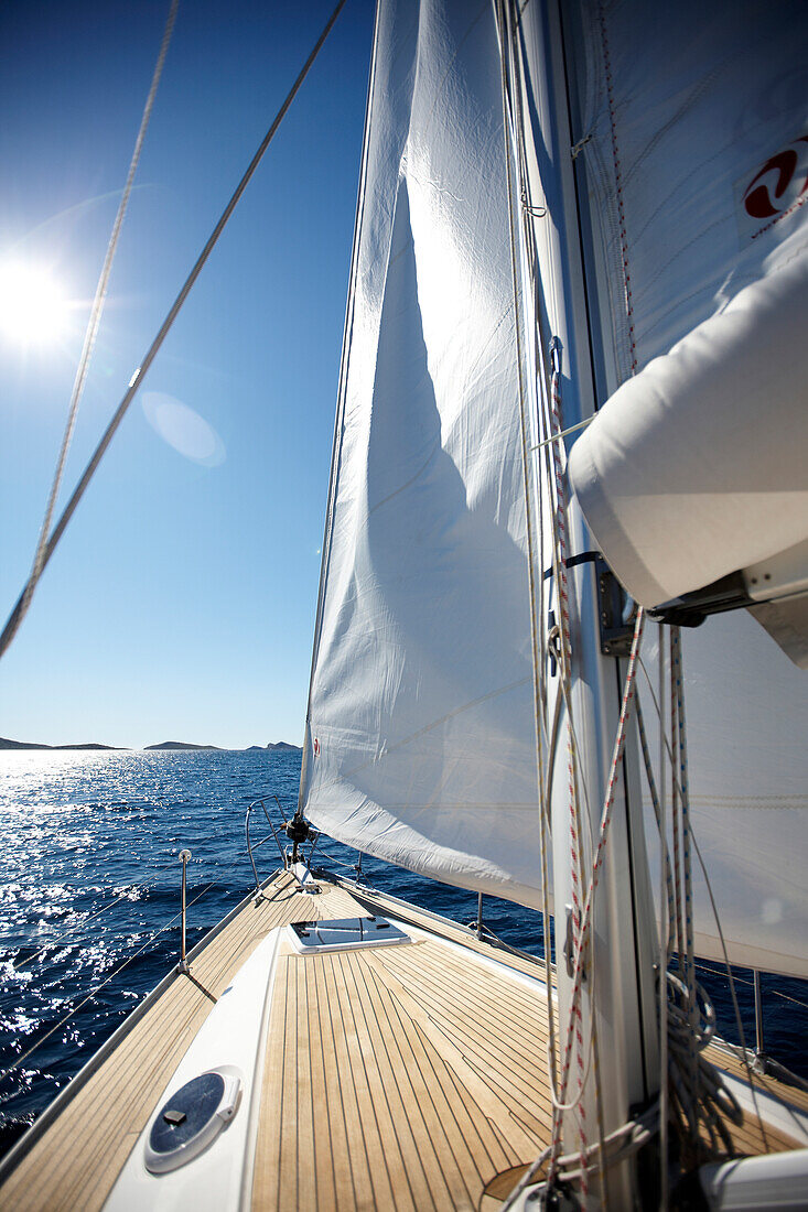
[[[0,1151],[177,962],[180,852],[192,853],[190,948],[252,886],[249,805],[267,796],[277,822],[277,796],[290,816],[298,778],[300,754],[272,750],[0,753]],[[263,879],[279,856],[260,810],[251,829]],[[334,841],[315,859],[355,874],[355,851]],[[477,916],[474,893],[366,856],[363,877],[456,921]],[[485,897],[483,920],[541,954],[539,914]],[[699,977],[736,1040],[728,981]],[[750,973],[736,977],[753,1042]],[[808,1076],[808,985],[764,977],[763,990],[768,1052]]]

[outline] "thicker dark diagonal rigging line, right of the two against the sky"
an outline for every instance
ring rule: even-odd
[[[210,257],[211,252],[214,251],[216,244],[218,242],[218,238],[221,236],[222,231],[227,227],[227,223],[228,223],[228,221],[229,221],[233,211],[235,210],[235,207],[237,207],[237,205],[238,205],[238,202],[239,202],[239,200],[241,198],[241,194],[246,189],[247,184],[250,183],[250,179],[251,179],[252,175],[255,173],[256,168],[261,164],[261,160],[263,159],[263,154],[267,150],[267,148],[269,147],[269,144],[272,143],[272,141],[273,141],[273,138],[274,138],[274,136],[275,136],[275,133],[278,131],[278,127],[280,126],[280,124],[283,122],[284,118],[286,116],[286,112],[288,112],[289,107],[291,105],[292,101],[295,99],[297,92],[300,91],[300,87],[303,84],[303,80],[306,79],[306,76],[308,75],[309,68],[314,63],[314,59],[319,55],[319,52],[320,52],[320,50],[323,47],[323,44],[325,42],[326,38],[331,33],[331,29],[332,29],[332,27],[334,27],[334,24],[335,24],[335,22],[337,19],[337,17],[340,16],[340,12],[342,11],[345,4],[346,4],[346,0],[337,0],[337,5],[334,8],[334,12],[329,17],[328,22],[325,23],[325,27],[323,28],[323,32],[322,32],[320,36],[318,38],[317,42],[312,47],[312,51],[309,52],[309,56],[306,59],[306,63],[301,68],[301,70],[300,70],[300,73],[297,75],[297,79],[295,80],[294,85],[291,86],[291,88],[286,93],[286,98],[285,98],[284,103],[281,104],[280,109],[275,114],[275,118],[273,119],[273,122],[272,122],[269,130],[267,131],[267,133],[264,135],[263,139],[261,141],[261,144],[258,145],[257,152],[252,156],[252,160],[247,165],[246,171],[244,172],[244,176],[241,177],[241,179],[239,181],[238,185],[235,187],[235,190],[234,190],[234,193],[233,193],[229,202],[227,204],[227,206],[222,211],[222,213],[221,213],[221,216],[218,218],[218,222],[216,223],[216,227],[211,231],[211,234],[210,234],[210,236],[207,239],[207,242],[205,244],[205,247],[203,248],[203,251],[200,252],[199,257],[197,258],[193,269],[188,274],[186,281],[183,282],[183,286],[182,286],[180,293],[177,295],[177,297],[173,301],[173,303],[172,303],[172,305],[171,305],[171,308],[170,308],[170,310],[169,310],[169,313],[167,313],[167,315],[165,318],[165,320],[163,321],[157,337],[154,338],[154,341],[149,345],[148,350],[146,351],[146,355],[143,356],[143,360],[142,360],[141,365],[138,366],[138,368],[132,375],[132,378],[130,381],[130,384],[129,384],[129,388],[126,390],[126,394],[124,395],[123,400],[118,405],[118,408],[115,410],[115,413],[114,413],[112,421],[107,425],[107,429],[104,430],[104,433],[103,433],[103,435],[101,438],[101,441],[96,446],[96,450],[95,450],[95,452],[92,454],[92,458],[87,463],[81,479],[79,480],[76,487],[73,491],[73,496],[70,497],[70,499],[68,501],[67,505],[64,507],[64,510],[62,511],[62,516],[59,518],[59,520],[57,521],[56,526],[53,527],[53,531],[50,533],[50,536],[47,537],[47,539],[45,542],[42,542],[42,539],[45,537],[46,528],[45,528],[45,526],[42,527],[42,536],[40,537],[40,543],[39,543],[39,547],[38,547],[38,554],[36,554],[36,559],[34,561],[34,568],[32,571],[30,577],[25,582],[23,591],[21,593],[19,598],[17,599],[17,604],[15,605],[15,608],[12,610],[11,614],[8,616],[8,619],[7,619],[6,625],[5,625],[4,630],[2,630],[2,634],[0,635],[0,657],[2,657],[5,654],[5,652],[8,648],[8,645],[11,644],[11,641],[15,638],[15,635],[17,634],[17,629],[18,629],[18,627],[19,627],[19,624],[21,624],[21,622],[22,622],[22,619],[23,619],[23,617],[24,617],[24,614],[25,614],[25,612],[28,610],[28,606],[30,605],[30,600],[32,600],[32,596],[34,594],[34,590],[36,589],[39,579],[40,579],[42,572],[45,571],[45,567],[47,566],[49,560],[53,555],[53,551],[56,550],[57,543],[59,542],[59,539],[62,538],[62,534],[67,530],[67,526],[68,526],[70,519],[73,518],[73,514],[75,513],[76,505],[81,501],[81,497],[84,496],[84,493],[85,493],[85,491],[87,488],[87,485],[90,484],[90,480],[95,475],[95,473],[96,473],[96,470],[98,468],[98,464],[101,463],[103,456],[107,452],[107,447],[112,442],[112,440],[113,440],[113,438],[114,438],[114,435],[115,435],[115,433],[118,430],[118,427],[120,425],[121,421],[124,419],[124,417],[125,417],[125,415],[126,415],[126,412],[129,410],[130,404],[135,399],[135,396],[136,396],[136,394],[137,394],[137,391],[138,391],[138,389],[140,389],[143,379],[146,378],[147,371],[149,370],[152,362],[157,358],[157,355],[158,355],[158,353],[160,350],[160,347],[163,345],[165,338],[169,336],[169,332],[171,331],[171,328],[173,326],[173,322],[177,319],[181,309],[182,309],[182,305],[184,304],[188,295],[190,293],[190,290],[194,286],[197,279],[199,278],[199,275],[200,275],[200,273],[201,273],[201,270],[203,270],[203,268],[204,268],[207,258]],[[140,152],[138,152],[138,154],[140,154]],[[72,433],[72,425],[70,425],[69,422],[68,422],[68,433]],[[64,456],[66,454],[67,454],[67,447],[64,447]],[[63,458],[61,458],[61,462],[63,462]],[[59,471],[59,479],[61,479],[61,471]],[[58,491],[58,485],[56,485],[56,491]],[[51,497],[52,497],[52,502],[55,503],[55,501],[56,501],[56,492],[52,491],[51,492]],[[49,504],[49,513],[52,513],[52,504]],[[46,521],[50,521],[50,518],[47,518]]]

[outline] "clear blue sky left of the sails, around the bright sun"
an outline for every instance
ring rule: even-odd
[[[331,7],[181,2],[62,501]],[[58,344],[0,335],[4,619],[30,567],[166,12],[167,0],[0,8],[0,265],[46,265],[76,303]],[[369,0],[348,0],[79,507],[0,662],[1,736],[301,741],[371,24]],[[215,431],[211,457],[176,404]],[[160,416],[178,418],[195,457],[155,429]]]

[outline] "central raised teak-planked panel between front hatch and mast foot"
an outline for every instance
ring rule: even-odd
[[[290,1025],[288,1016],[275,1008],[269,1031],[285,1033],[284,1073],[291,1073],[294,1053],[298,1097],[292,1109],[291,1099],[264,1079],[255,1210],[294,1207],[290,1193],[301,1182],[309,1188],[297,1187],[298,1206],[308,1202],[315,1182],[317,1207],[474,1208],[495,1173],[519,1160],[530,1161],[547,1143],[548,1116],[534,1104],[530,1091],[517,1088],[516,1076],[505,1084],[493,1080],[505,1060],[514,1063],[510,1056],[513,1036],[501,1030],[502,1016],[494,1022],[489,1014],[486,1025],[497,1028],[499,1040],[488,1041],[488,1052],[482,1046],[476,1052],[462,1037],[465,985],[454,1002],[444,989],[446,1006],[438,1012],[423,1004],[421,990],[416,996],[411,964],[417,966],[419,954],[429,949],[443,951],[445,989],[453,983],[457,987],[462,956],[431,942],[289,956],[283,972],[279,968],[277,981],[285,983],[286,991],[277,989],[277,1005],[294,990],[296,1023]],[[437,979],[433,972],[428,983]],[[480,979],[507,1013],[513,983],[482,968]],[[474,1018],[472,1010],[465,1013]],[[269,1054],[275,1056],[278,1047],[278,1039],[272,1039]],[[530,1067],[535,1081],[541,1081],[536,1057],[544,1050],[523,1040],[519,1048],[524,1056],[517,1067],[523,1071]],[[340,1098],[332,1097],[336,1090]],[[346,1142],[349,1182],[345,1166],[337,1177],[332,1160],[318,1153],[311,1136],[313,1110],[301,1098],[318,1107],[322,1142],[331,1148],[337,1139]],[[318,1104],[324,1098],[320,1115]],[[297,1136],[296,1148],[290,1133]],[[278,1138],[280,1154],[273,1164],[269,1142]],[[305,1166],[308,1176],[301,1173]],[[286,1183],[284,1176],[295,1167],[296,1174]]]

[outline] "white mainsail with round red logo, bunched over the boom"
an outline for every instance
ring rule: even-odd
[[[586,10],[584,154],[624,382],[570,479],[655,606],[808,539],[808,5]]]

